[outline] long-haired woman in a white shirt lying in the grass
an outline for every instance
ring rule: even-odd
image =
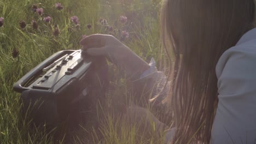
[[[174,136],[166,135],[169,142],[256,140],[253,21],[253,0],[165,0],[162,41],[175,59],[168,79],[171,85],[166,85],[170,93],[158,94],[154,100],[164,98],[173,110],[176,129]],[[111,35],[90,35],[80,44],[89,55],[113,58],[133,80],[163,77],[154,64],[147,64]]]

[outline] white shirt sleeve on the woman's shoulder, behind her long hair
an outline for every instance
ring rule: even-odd
[[[216,66],[218,107],[211,143],[256,140],[256,47],[232,47]]]

